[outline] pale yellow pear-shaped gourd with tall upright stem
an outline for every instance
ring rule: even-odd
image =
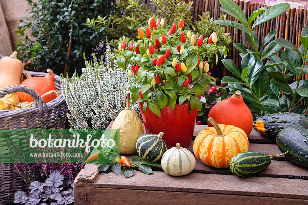
[[[131,110],[129,93],[127,94],[126,108],[115,118],[111,129],[120,130],[121,154],[133,154],[137,152],[137,139],[144,134],[144,127],[137,113]]]

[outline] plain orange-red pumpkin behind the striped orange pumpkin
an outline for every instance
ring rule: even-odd
[[[249,136],[253,128],[253,116],[245,105],[239,90],[230,98],[214,105],[209,111],[209,117],[212,117],[218,124],[234,125],[241,128],[247,136]],[[208,126],[212,127],[213,125],[208,122]]]

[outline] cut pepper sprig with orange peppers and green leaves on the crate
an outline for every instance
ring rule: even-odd
[[[113,149],[110,151],[97,151],[92,154],[86,163],[94,163],[98,165],[99,174],[108,174],[110,171],[121,176],[121,169],[126,178],[131,177],[134,174],[133,167],[138,167],[140,171],[145,174],[152,174],[152,168],[150,166],[160,167],[159,164],[154,162],[145,161],[141,157],[132,157],[132,161],[129,161],[127,157],[120,156],[120,153],[117,153]]]

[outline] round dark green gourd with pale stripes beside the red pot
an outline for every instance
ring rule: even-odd
[[[136,147],[139,156],[146,160],[156,162],[167,151],[167,144],[163,140],[163,132],[158,135],[144,134],[137,139]]]

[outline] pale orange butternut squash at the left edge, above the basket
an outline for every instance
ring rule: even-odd
[[[20,84],[22,62],[17,59],[17,52],[0,60],[0,85],[4,88]]]

